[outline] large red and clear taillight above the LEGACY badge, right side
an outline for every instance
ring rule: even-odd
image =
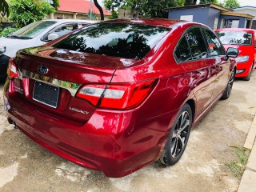
[[[86,85],[79,90],[77,97],[84,98],[97,106],[118,110],[138,106],[154,88],[155,80],[149,82],[127,82],[106,85]]]

